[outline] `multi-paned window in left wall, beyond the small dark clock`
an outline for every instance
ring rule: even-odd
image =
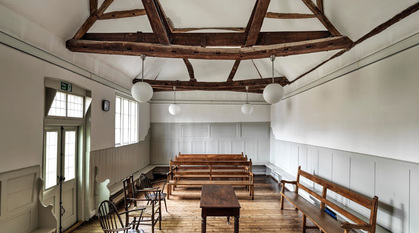
[[[137,102],[116,96],[115,101],[115,145],[138,142]]]

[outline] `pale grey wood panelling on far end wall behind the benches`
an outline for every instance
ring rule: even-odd
[[[245,130],[242,130],[246,128]],[[245,132],[242,136],[240,132]],[[152,123],[151,162],[168,164],[174,154],[245,153],[253,163],[269,161],[269,123]],[[174,148],[175,144],[178,148]],[[175,152],[175,153],[172,153]],[[168,155],[170,153],[170,155]]]

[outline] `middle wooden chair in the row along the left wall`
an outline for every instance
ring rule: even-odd
[[[161,197],[160,190],[158,188],[146,188],[136,189],[134,187],[134,178],[129,176],[123,181],[123,193],[124,193],[124,205],[125,211],[129,211],[135,207],[144,207],[145,210],[141,216],[138,213],[127,212],[126,213],[126,224],[129,222],[129,218],[134,218],[134,221],[138,221],[139,225],[151,225],[151,232],[154,233],[154,226],[159,223],[159,229],[161,230]],[[154,193],[156,198],[155,201],[149,201],[145,197],[145,193]],[[136,220],[138,218],[138,220]]]

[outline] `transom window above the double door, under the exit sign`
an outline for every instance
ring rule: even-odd
[[[57,92],[48,115],[83,118],[83,102],[81,96]]]

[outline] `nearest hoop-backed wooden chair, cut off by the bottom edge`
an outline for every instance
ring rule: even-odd
[[[139,212],[140,214],[140,218],[141,215],[144,211],[144,208],[141,209],[134,209],[131,210],[130,212]],[[122,213],[118,213],[118,210],[116,209],[115,205],[108,201],[102,201],[100,203],[100,205],[98,206],[98,218],[99,218],[99,222],[100,222],[100,226],[102,227],[103,231],[105,233],[108,232],[123,232],[123,233],[128,233],[128,231],[131,232],[136,232],[136,233],[144,233],[143,230],[138,229],[138,223],[139,221],[136,222],[136,224],[126,224],[124,226],[124,223],[122,222],[121,219],[121,214],[125,214],[125,212]]]

